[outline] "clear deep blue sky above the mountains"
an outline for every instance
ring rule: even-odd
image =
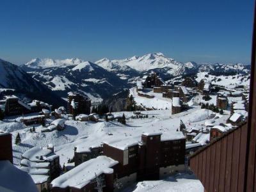
[[[253,0],[2,0],[0,58],[250,63]]]

